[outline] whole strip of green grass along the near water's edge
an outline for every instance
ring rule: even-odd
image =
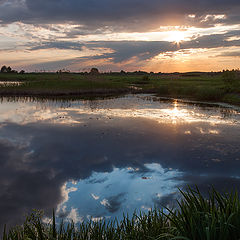
[[[220,194],[210,190],[204,198],[198,189],[181,192],[182,200],[175,210],[152,210],[148,214],[135,214],[122,221],[74,223],[56,226],[44,224],[41,215],[32,214],[23,226],[6,229],[3,240],[15,239],[79,239],[79,240],[147,240],[190,239],[227,240],[240,238],[240,200],[238,193]],[[167,212],[167,213],[166,213]]]

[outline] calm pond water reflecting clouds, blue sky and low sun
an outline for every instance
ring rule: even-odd
[[[0,103],[0,225],[169,206],[177,188],[240,186],[240,112],[151,96]]]

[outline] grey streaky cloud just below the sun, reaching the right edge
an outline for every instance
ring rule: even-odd
[[[234,40],[231,38],[239,38],[240,31],[229,31],[223,34],[204,35],[193,38],[189,41],[183,41],[176,44],[168,41],[90,41],[90,42],[72,42],[72,41],[54,41],[43,42],[29,47],[29,50],[39,49],[72,49],[82,51],[83,49],[90,50],[108,50],[109,53],[98,53],[93,56],[72,58],[56,62],[48,62],[37,64],[34,67],[46,68],[51,66],[53,69],[71,66],[72,64],[80,64],[88,60],[108,59],[112,63],[124,63],[131,58],[136,58],[136,62],[150,60],[161,53],[171,56],[177,50],[188,49],[212,49],[223,47],[239,47],[240,39]],[[234,54],[234,56],[236,56]],[[95,63],[93,63],[94,65]]]

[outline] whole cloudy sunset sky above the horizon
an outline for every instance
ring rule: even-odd
[[[0,65],[26,71],[240,67],[239,0],[0,0]]]

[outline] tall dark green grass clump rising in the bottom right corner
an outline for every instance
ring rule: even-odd
[[[240,238],[240,201],[237,192],[220,194],[212,189],[204,198],[196,188],[181,191],[179,208],[167,216],[175,237],[225,240]]]

